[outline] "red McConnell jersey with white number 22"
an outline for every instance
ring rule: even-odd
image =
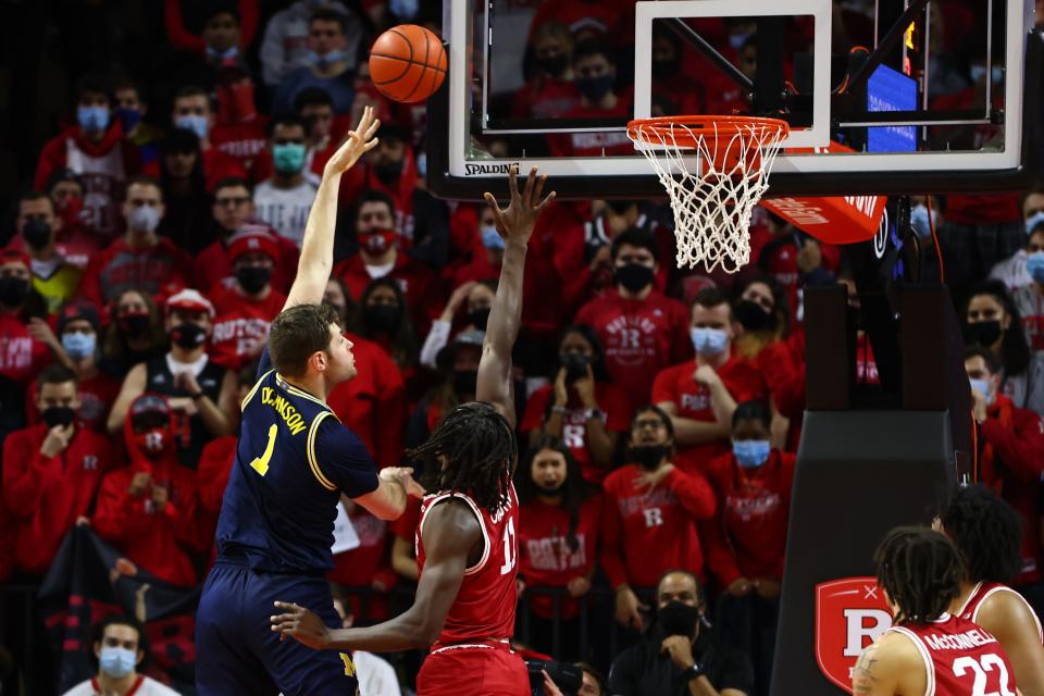
[[[1015,671],[995,637],[971,621],[943,614],[928,625],[892,626],[913,642],[924,659],[934,696],[1015,696]]]

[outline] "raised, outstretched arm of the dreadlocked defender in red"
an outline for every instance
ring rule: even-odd
[[[511,378],[511,349],[519,335],[522,321],[522,275],[525,271],[525,251],[533,235],[533,227],[540,212],[555,198],[552,191],[542,199],[546,176],[537,178],[536,167],[530,170],[525,188],[519,192],[518,166],[508,174],[511,201],[500,209],[493,194],[486,201],[493,209],[497,232],[504,237],[504,261],[500,265],[500,283],[497,296],[489,308],[486,324],[486,340],[482,346],[478,362],[478,383],[475,399],[497,405],[505,418],[515,425],[514,389]]]

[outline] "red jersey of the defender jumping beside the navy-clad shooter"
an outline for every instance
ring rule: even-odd
[[[446,625],[438,636],[442,645],[510,638],[514,633],[514,607],[518,588],[514,576],[519,564],[519,499],[511,486],[504,508],[489,513],[463,493],[438,493],[421,502],[421,523],[417,526],[417,567],[424,574],[422,538],[427,513],[438,502],[453,497],[471,508],[482,526],[483,551],[477,563],[464,571],[457,599],[449,608]]]

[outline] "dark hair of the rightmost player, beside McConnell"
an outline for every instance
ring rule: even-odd
[[[1022,521],[992,489],[958,488],[940,517],[971,582],[1009,583],[1022,570]]]

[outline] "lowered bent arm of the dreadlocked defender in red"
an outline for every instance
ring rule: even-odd
[[[315,649],[394,652],[426,648],[442,633],[449,608],[464,579],[468,556],[482,540],[475,514],[462,502],[449,499],[432,508],[423,531],[424,572],[417,585],[413,606],[398,617],[361,629],[330,629],[311,611],[294,604],[276,602],[272,630],[293,636]]]

